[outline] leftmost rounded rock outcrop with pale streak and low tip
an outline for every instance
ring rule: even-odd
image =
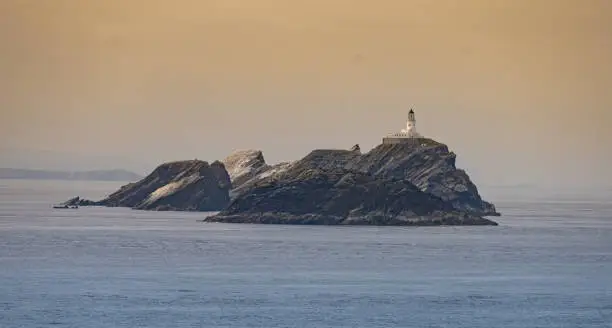
[[[230,188],[230,177],[222,163],[190,160],[162,164],[144,179],[122,186],[101,201],[70,201],[82,206],[219,211],[229,203]]]

